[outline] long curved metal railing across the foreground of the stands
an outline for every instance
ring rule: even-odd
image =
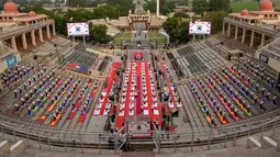
[[[186,131],[153,131],[146,138],[133,138],[125,133],[123,127],[117,133],[107,132],[81,132],[71,130],[55,130],[43,126],[15,121],[10,117],[0,116],[0,131],[2,139],[24,141],[27,145],[36,143],[34,146],[42,149],[54,149],[55,147],[68,149],[113,149],[117,153],[123,147],[150,147],[160,153],[161,148],[208,146],[212,144],[224,144],[227,142],[235,144],[238,137],[244,137],[255,133],[264,134],[267,130],[272,130],[273,134],[280,126],[280,110],[267,113],[253,119],[244,120],[238,123],[222,125],[219,127],[209,127],[205,130],[186,130]],[[120,141],[121,136],[124,141]],[[134,134],[134,136],[137,136]],[[128,144],[128,145],[127,145]]]

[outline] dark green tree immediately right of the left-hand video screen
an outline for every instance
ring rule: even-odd
[[[113,41],[113,37],[107,34],[108,27],[104,24],[96,24],[91,27],[90,36],[99,44],[107,44]]]

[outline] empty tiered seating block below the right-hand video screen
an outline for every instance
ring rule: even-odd
[[[172,55],[168,53],[167,56],[179,78],[192,77],[229,64],[223,59],[220,53],[210,48],[205,42],[194,43],[178,49]]]

